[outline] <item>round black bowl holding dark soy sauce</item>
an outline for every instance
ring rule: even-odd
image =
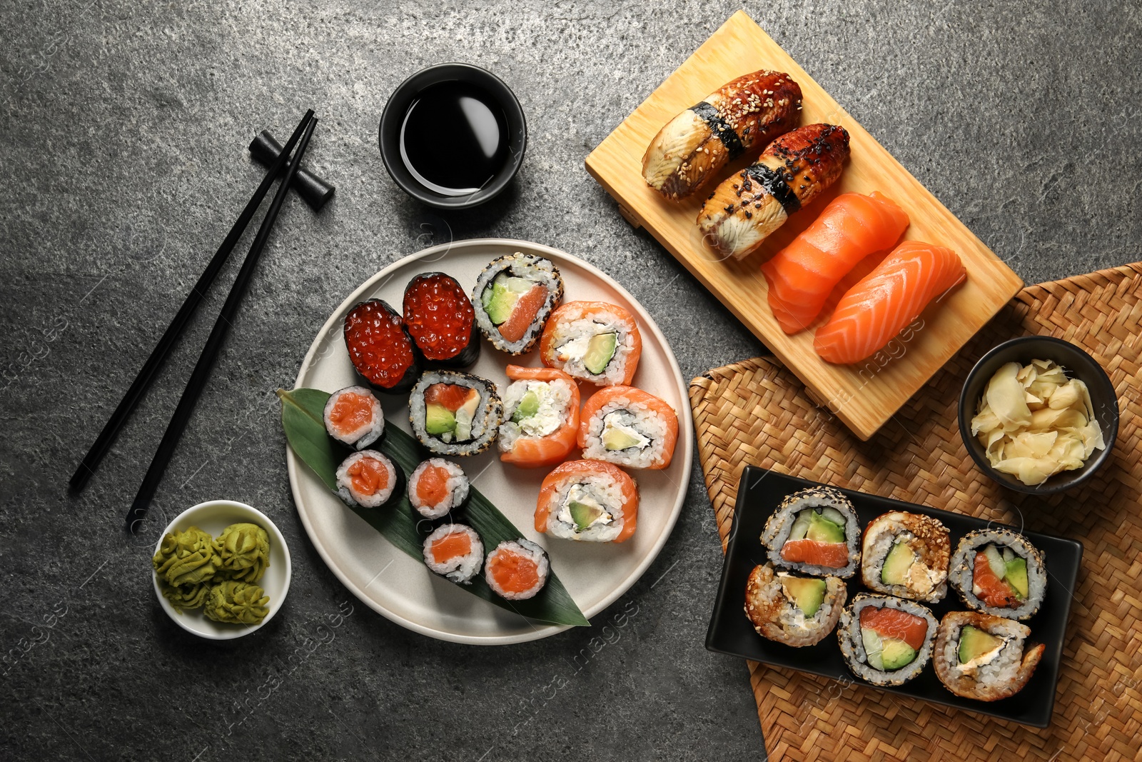
[[[489,183],[475,193],[466,195],[444,195],[425,187],[412,176],[401,159],[401,125],[413,101],[433,85],[453,81],[472,85],[486,91],[496,105],[504,111],[508,130],[507,161]],[[439,209],[469,209],[499,195],[515,177],[515,174],[520,171],[523,153],[528,146],[528,125],[515,94],[491,72],[472,64],[436,64],[412,74],[393,91],[380,114],[377,139],[385,169],[401,190],[413,199]],[[442,145],[440,150],[447,152],[451,150],[451,146]],[[456,159],[464,160],[463,157]]]

